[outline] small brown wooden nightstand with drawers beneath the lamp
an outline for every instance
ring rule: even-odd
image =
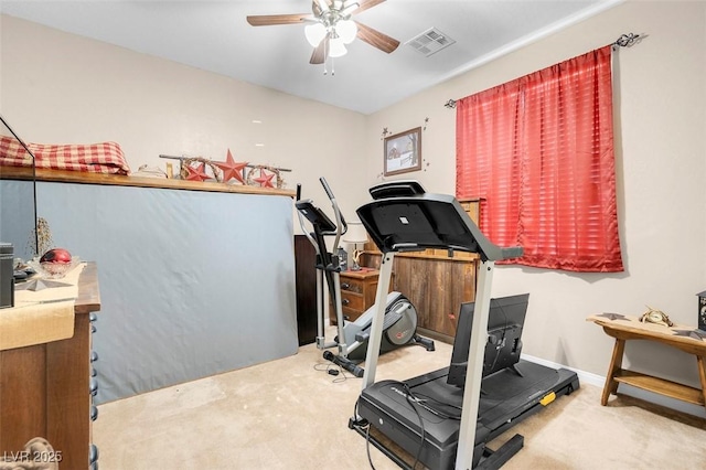
[[[341,271],[341,305],[345,320],[357,320],[365,310],[375,305],[378,276],[379,271],[376,269]],[[329,303],[329,320],[331,324],[338,324],[335,309],[331,302]]]

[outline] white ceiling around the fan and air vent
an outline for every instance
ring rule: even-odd
[[[375,113],[581,21],[621,0],[387,0],[354,19],[400,42],[392,54],[357,40],[311,65],[304,24],[252,26],[248,14],[309,13],[310,0],[0,0],[0,11],[333,106]],[[430,28],[456,43],[426,57],[409,45]],[[331,68],[335,75],[331,74]]]

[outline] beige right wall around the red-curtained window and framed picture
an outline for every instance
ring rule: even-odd
[[[419,126],[428,191],[453,193],[454,110],[461,98],[598,49],[622,33],[646,34],[618,52],[616,147],[625,273],[576,275],[500,267],[496,296],[531,292],[524,350],[605,375],[612,343],[585,321],[591,313],[640,314],[645,305],[680,323],[696,323],[695,293],[706,289],[706,2],[627,2],[367,119],[368,172],[382,172],[379,136]],[[428,167],[426,167],[428,164]],[[656,350],[660,354],[653,353]],[[640,370],[698,383],[693,356],[654,344],[629,344]]]

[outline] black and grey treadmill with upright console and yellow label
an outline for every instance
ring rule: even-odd
[[[383,257],[363,389],[349,427],[402,468],[410,466],[388,441],[430,469],[500,468],[522,448],[523,437],[515,435],[494,451],[486,444],[579,387],[571,371],[522,360],[483,378],[494,263],[522,256],[523,249],[492,244],[453,196],[426,193],[416,181],[387,182],[370,192],[373,201],[356,212]],[[461,338],[457,333],[451,377],[450,367],[443,367],[407,381],[376,383],[384,296],[394,256],[427,248],[448,249],[450,256],[454,250],[478,253],[470,334]],[[458,365],[466,361],[459,360],[459,351],[468,357],[460,380]]]

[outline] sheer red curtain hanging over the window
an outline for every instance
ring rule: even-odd
[[[611,46],[457,102],[458,199],[512,263],[622,271]]]

